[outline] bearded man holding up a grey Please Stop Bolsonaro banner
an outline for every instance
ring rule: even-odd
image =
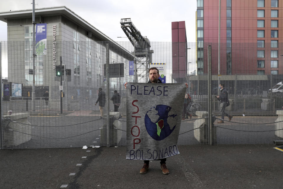
[[[144,160],[141,174],[149,160],[160,160],[163,174],[169,174],[166,158],[177,155],[177,140],[182,119],[186,87],[162,84],[159,70],[149,69],[148,83],[128,83],[126,159]]]

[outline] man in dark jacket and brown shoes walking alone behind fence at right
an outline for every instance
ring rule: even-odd
[[[221,120],[219,120],[217,123],[224,123],[224,116],[227,116],[229,118],[229,121],[231,121],[232,119],[232,115],[228,115],[228,113],[225,112],[225,108],[228,102],[228,92],[226,91],[226,89],[223,87],[222,84],[219,84],[218,87],[221,91],[220,95],[217,95],[216,98],[218,99],[218,101],[220,101],[220,106],[219,106],[219,110],[221,112]]]

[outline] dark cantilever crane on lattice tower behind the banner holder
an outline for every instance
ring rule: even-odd
[[[138,61],[134,60],[135,80],[136,82],[147,82],[149,78],[147,70],[152,62],[153,53],[153,50],[150,50],[150,41],[136,29],[131,18],[122,18],[120,23],[122,30],[134,46],[132,53],[139,58]]]

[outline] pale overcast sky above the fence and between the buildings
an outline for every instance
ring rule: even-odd
[[[31,3],[1,0],[0,12],[32,9]],[[35,0],[35,4],[36,8],[66,6],[114,41],[128,41],[117,38],[126,36],[121,18],[131,18],[141,35],[151,42],[171,42],[171,22],[185,21],[187,42],[195,42],[196,0]],[[6,40],[7,25],[0,21],[0,41]]]

